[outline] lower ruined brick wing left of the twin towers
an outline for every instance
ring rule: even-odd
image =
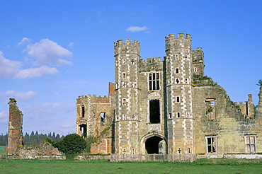
[[[76,100],[76,134],[93,136],[91,153],[112,153],[115,84],[109,83],[108,97],[87,95]]]

